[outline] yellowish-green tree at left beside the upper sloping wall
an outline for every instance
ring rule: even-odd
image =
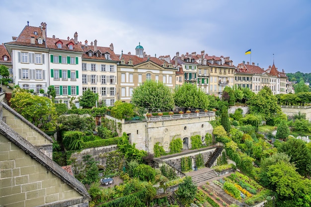
[[[33,95],[26,90],[16,88],[10,99],[11,107],[29,122],[39,128],[54,128],[56,110],[47,97]]]

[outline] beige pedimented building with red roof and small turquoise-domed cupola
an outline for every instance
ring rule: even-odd
[[[136,54],[121,54],[117,67],[117,100],[130,102],[133,90],[146,80],[160,81],[175,88],[176,68],[164,60],[147,56],[139,44]],[[143,55],[142,55],[143,54]]]

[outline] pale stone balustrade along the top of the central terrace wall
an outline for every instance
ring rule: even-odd
[[[199,112],[199,113],[189,113],[189,114],[173,114],[173,115],[164,115],[164,116],[152,116],[148,118],[148,121],[158,122],[158,121],[167,121],[167,120],[176,120],[176,119],[189,119],[189,118],[198,118],[198,117],[214,117],[214,111],[208,112]]]

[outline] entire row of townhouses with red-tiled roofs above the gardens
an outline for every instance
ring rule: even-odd
[[[170,59],[146,55],[139,44],[135,54],[114,53],[109,47],[97,46],[97,40],[88,44],[74,38],[66,40],[47,37],[47,24],[39,27],[26,25],[18,37],[12,37],[0,47],[0,64],[5,64],[14,84],[35,92],[47,92],[53,85],[55,102],[69,103],[90,89],[99,94],[99,102],[107,106],[116,100],[130,102],[133,90],[144,81],[152,79],[175,88],[183,83],[197,85],[206,94],[222,96],[226,86],[248,87],[257,93],[263,86],[271,88],[274,94],[287,92],[287,77],[272,67],[264,70],[249,63],[233,65],[230,57],[186,53]]]

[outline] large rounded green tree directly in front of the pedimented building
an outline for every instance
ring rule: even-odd
[[[162,82],[147,80],[133,90],[132,102],[152,111],[165,111],[174,107],[173,94]]]

